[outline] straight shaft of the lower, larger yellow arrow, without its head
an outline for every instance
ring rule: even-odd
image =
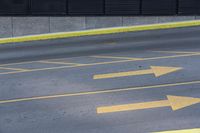
[[[153,102],[98,107],[97,113],[102,114],[102,113],[112,113],[112,112],[121,112],[121,111],[134,111],[134,110],[160,108],[160,107],[168,107],[168,106],[170,106],[170,102],[168,100],[161,100],[161,101],[153,101]]]

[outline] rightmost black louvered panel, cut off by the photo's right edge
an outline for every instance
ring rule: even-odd
[[[198,14],[199,0],[179,0],[178,13],[183,15]]]

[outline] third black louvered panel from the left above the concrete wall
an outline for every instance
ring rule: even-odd
[[[68,0],[70,15],[103,15],[104,0]]]

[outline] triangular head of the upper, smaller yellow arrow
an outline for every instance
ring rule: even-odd
[[[151,66],[151,69],[156,77],[160,77],[165,74],[176,72],[181,70],[181,67],[163,67],[163,66]]]

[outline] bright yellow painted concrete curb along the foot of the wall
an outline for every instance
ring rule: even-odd
[[[200,20],[2,38],[0,44],[200,26]]]

